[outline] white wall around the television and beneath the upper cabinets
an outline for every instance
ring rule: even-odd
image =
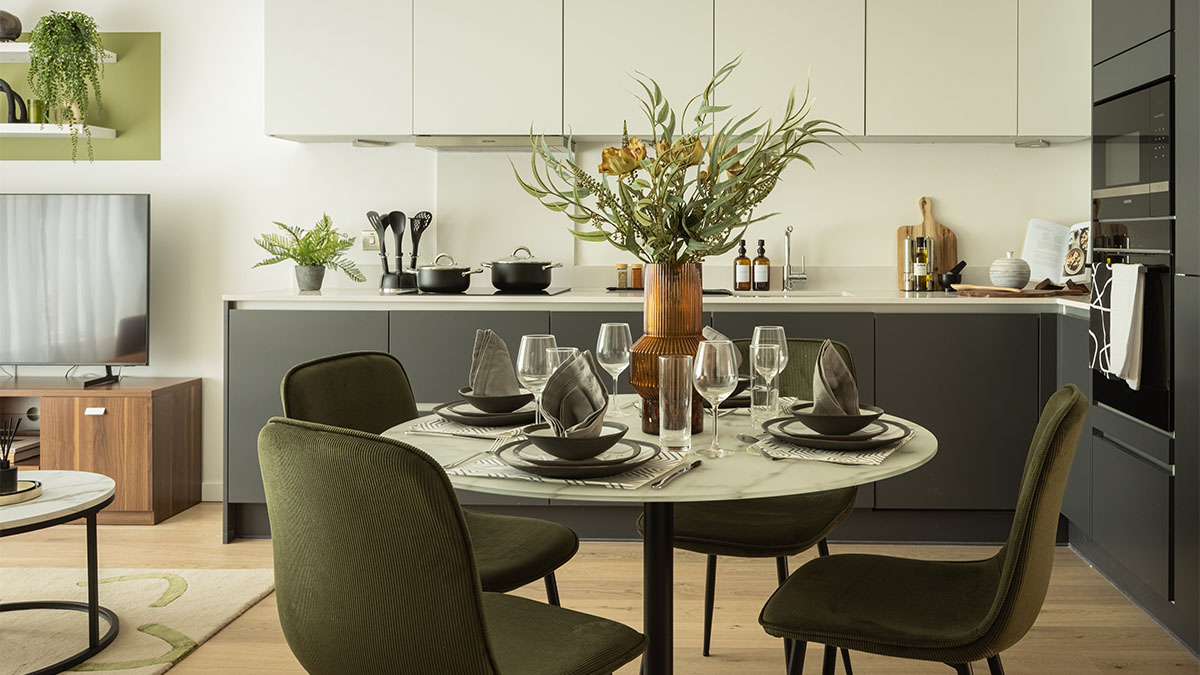
[[[5,8],[28,29],[62,7],[10,0]],[[328,211],[338,227],[358,234],[368,209],[428,209],[434,221],[422,258],[445,250],[478,263],[526,244],[539,256],[581,265],[628,259],[605,244],[575,243],[564,234],[568,221],[516,185],[503,153],[300,145],[264,136],[260,1],[76,0],[71,8],[94,16],[106,31],[162,32],[162,160],[0,162],[0,190],[151,195],[152,365],[136,375],[204,378],[208,500],[221,496],[221,295],[293,283],[288,265],[250,269],[263,257],[251,239],[271,229],[271,221],[307,226]],[[313,84],[313,104],[326,104],[319,83]],[[766,238],[776,263],[782,262],[782,228],[792,223],[796,253],[806,255],[810,265],[893,265],[895,228],[919,221],[923,195],[935,199],[936,217],[958,233],[960,255],[973,265],[1019,250],[1031,216],[1087,217],[1085,143],[1042,150],[871,144],[842,151],[815,151],[818,171],[790,169],[764,205],[784,215],[756,226],[748,238]],[[599,163],[599,148],[583,148],[581,157],[586,166]],[[527,155],[514,159],[527,171]],[[368,277],[378,274],[374,253],[354,257]],[[330,275],[326,285],[350,282]]]

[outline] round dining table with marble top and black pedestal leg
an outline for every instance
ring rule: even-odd
[[[634,394],[618,396],[618,405],[629,406]],[[626,407],[626,410],[630,410]],[[632,411],[631,411],[632,412]],[[420,448],[443,465],[461,461],[488,450],[490,440],[460,436],[409,434],[409,429],[427,422],[421,417],[396,425],[383,435]],[[612,418],[610,418],[612,419]],[[566,480],[533,482],[512,478],[485,478],[449,474],[456,489],[493,495],[533,497],[542,500],[575,500],[601,502],[634,502],[642,504],[643,522],[643,627],[647,647],[642,657],[643,675],[670,675],[673,669],[673,557],[674,504],[679,502],[712,502],[780,497],[804,492],[820,492],[851,485],[864,485],[912,471],[937,453],[937,438],[928,429],[907,419],[884,416],[914,431],[908,442],[894,450],[878,465],[848,465],[829,461],[782,459],[774,460],[748,443],[746,435],[755,434],[749,411],[722,414],[719,420],[721,446],[736,450],[733,455],[708,459],[695,453],[712,441],[712,416],[706,412],[704,431],[692,435],[691,448],[679,466],[702,460],[701,466],[670,480],[661,489],[649,484],[637,489],[617,489],[600,485],[570,484]],[[629,426],[628,438],[658,443],[658,436],[643,434],[637,417],[612,419]],[[758,430],[758,434],[762,431]],[[766,602],[766,598],[764,598]]]

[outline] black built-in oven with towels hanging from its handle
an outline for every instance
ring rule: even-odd
[[[1172,393],[1175,219],[1099,219],[1092,222],[1092,396],[1164,431],[1175,429]],[[1112,264],[1145,268],[1141,312],[1141,377],[1133,389],[1109,372],[1105,354],[1111,327],[1105,312],[1112,298]]]

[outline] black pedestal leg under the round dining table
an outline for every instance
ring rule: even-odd
[[[642,656],[642,675],[674,673],[674,504],[646,502],[642,507],[644,555],[642,595],[647,646]]]

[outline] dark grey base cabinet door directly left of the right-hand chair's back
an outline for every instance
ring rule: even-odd
[[[937,436],[929,464],[876,483],[876,508],[1015,508],[1042,412],[1039,321],[876,315],[876,405]]]

